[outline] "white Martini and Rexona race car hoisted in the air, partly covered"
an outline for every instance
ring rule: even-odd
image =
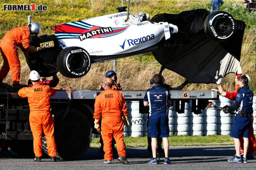
[[[196,36],[198,40],[203,37],[208,42],[229,41],[234,37],[237,25],[241,25],[227,12],[210,14],[204,9],[180,14],[158,14],[152,20],[146,17],[146,13],[141,13],[137,18],[129,14],[128,22],[126,18],[127,12],[122,8],[116,14],[52,26],[55,35],[31,36],[31,45],[39,46],[42,50],[29,52],[28,66],[44,77],[60,71],[66,77],[78,78],[88,73],[91,64],[169,47],[182,48],[182,45],[193,43],[191,38]],[[237,53],[228,52],[237,55],[236,59],[240,60],[240,53],[238,56]],[[162,65],[172,70],[162,59],[166,56],[157,52],[153,54]],[[218,50],[215,54],[218,54]],[[225,55],[222,52],[222,58]],[[179,74],[186,77],[183,73]]]

